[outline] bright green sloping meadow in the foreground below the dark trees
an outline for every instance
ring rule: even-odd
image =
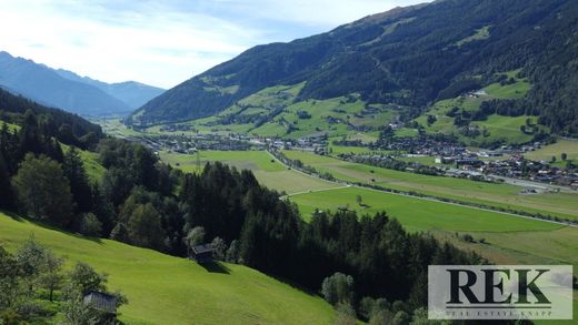
[[[109,274],[111,290],[129,304],[126,324],[330,324],[332,308],[312,296],[255,270],[222,264],[211,272],[186,258],[90,240],[0,213],[0,245],[14,251],[30,234],[67,257]]]

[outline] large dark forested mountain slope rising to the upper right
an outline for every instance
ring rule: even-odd
[[[251,94],[305,83],[295,102],[359,94],[367,104],[427,111],[517,71],[531,84],[507,105],[552,132],[578,134],[578,2],[440,0],[330,32],[255,47],[153,99],[129,123],[215,115]],[[510,111],[519,112],[519,109]]]

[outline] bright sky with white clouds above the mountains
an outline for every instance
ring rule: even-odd
[[[0,51],[171,88],[263,43],[425,0],[1,0]]]

